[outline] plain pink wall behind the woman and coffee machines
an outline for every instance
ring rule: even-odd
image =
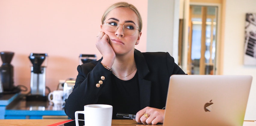
[[[146,51],[147,0],[126,0],[143,19],[136,49]],[[30,53],[48,53],[46,86],[76,78],[79,54],[101,54],[95,47],[101,17],[118,0],[1,0],[0,51],[13,51],[14,84],[30,89]],[[2,61],[0,61],[2,64]]]

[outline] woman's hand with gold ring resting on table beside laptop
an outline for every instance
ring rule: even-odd
[[[136,119],[133,120],[136,120],[138,123],[156,125],[157,123],[163,123],[164,112],[165,110],[163,109],[145,107],[136,113]]]

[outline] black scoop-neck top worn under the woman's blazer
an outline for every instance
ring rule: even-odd
[[[113,116],[112,119],[117,118],[117,113],[134,114],[141,110],[139,99],[139,80],[138,74],[127,81],[118,79],[116,76],[112,76],[112,99],[113,99]]]

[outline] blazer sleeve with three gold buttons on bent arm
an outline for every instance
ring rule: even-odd
[[[84,110],[88,104],[111,104],[111,71],[101,63],[86,63],[77,67],[78,76],[74,89],[65,103],[65,113],[75,119],[75,111]],[[96,84],[102,81],[100,87]]]

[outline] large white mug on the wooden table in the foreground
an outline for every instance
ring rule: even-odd
[[[78,124],[78,113],[84,114],[84,126],[111,126],[113,106],[103,104],[85,105],[84,111],[75,112],[75,125]]]

